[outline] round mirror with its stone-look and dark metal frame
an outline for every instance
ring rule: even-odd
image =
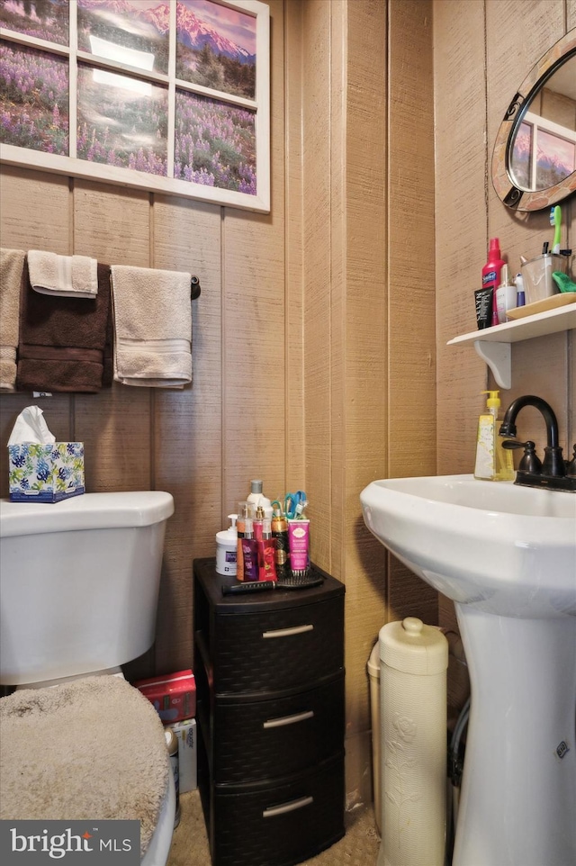
[[[576,30],[536,63],[509,104],[492,184],[517,211],[539,211],[576,192]]]

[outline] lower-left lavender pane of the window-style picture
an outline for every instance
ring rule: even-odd
[[[0,45],[0,141],[67,156],[66,58]]]

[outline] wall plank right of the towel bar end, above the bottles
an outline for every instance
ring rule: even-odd
[[[284,5],[271,0],[269,214],[229,209],[223,224],[222,493],[229,510],[250,480],[284,492]],[[228,512],[227,512],[228,513]]]

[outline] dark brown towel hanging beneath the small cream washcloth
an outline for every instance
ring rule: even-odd
[[[96,393],[110,385],[110,266],[98,264],[94,300],[34,292],[24,272],[17,389]]]

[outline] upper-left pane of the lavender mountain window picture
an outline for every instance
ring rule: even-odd
[[[67,0],[3,0],[0,26],[35,39],[67,45],[68,6]]]

